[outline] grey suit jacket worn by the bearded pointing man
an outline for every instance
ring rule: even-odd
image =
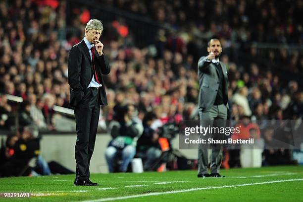
[[[228,98],[228,79],[227,79],[227,68],[220,62],[223,71],[223,97]],[[200,84],[199,92],[199,108],[202,111],[209,110],[216,99],[217,91],[219,88],[219,77],[218,69],[212,62],[207,62],[206,57],[203,56],[198,62],[198,77]],[[227,105],[227,100],[224,100],[224,104]],[[228,106],[227,106],[228,107]]]

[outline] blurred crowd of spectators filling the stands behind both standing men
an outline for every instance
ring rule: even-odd
[[[82,40],[85,23],[81,13],[73,20],[76,34],[66,35],[66,1],[54,5],[39,0],[0,1],[0,128],[11,130],[18,112],[21,126],[57,130],[53,106],[68,107],[67,56],[71,46]],[[258,63],[255,48],[248,42],[288,43],[302,46],[300,13],[303,2],[287,0],[104,0],[144,15],[172,29],[159,29],[144,48],[136,38],[124,38],[104,22],[104,53],[111,72],[103,76],[108,106],[101,109],[100,129],[114,119],[117,103],[136,106],[143,120],[153,112],[159,125],[182,119],[197,119],[197,60],[206,55],[206,42],[221,40],[220,60],[229,67],[230,119],[297,119],[303,117],[303,91],[298,80],[287,80],[283,71],[302,74],[300,51],[269,51],[271,69]],[[101,19],[102,20],[102,19]],[[127,25],[127,20],[124,22]],[[77,34],[78,33],[78,34]],[[106,35],[114,37],[106,38]],[[235,59],[235,43],[255,62]],[[281,73],[282,72],[282,73]],[[7,101],[6,94],[23,98],[21,106]],[[74,121],[68,122],[74,125]]]

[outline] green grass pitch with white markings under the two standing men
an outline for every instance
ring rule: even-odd
[[[225,178],[197,178],[197,171],[92,174],[99,186],[73,186],[74,175],[0,178],[0,193],[30,192],[46,202],[303,202],[303,166],[221,170]]]

